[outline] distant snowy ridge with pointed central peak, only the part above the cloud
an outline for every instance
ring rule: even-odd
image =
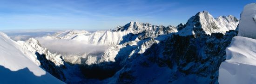
[[[94,45],[117,45],[123,40],[123,36],[127,34],[144,34],[147,37],[156,37],[158,35],[169,34],[177,32],[173,26],[156,26],[149,23],[133,22],[118,26],[116,29],[108,31],[95,31],[88,32],[85,30],[67,30],[59,32],[52,38],[56,39],[69,39],[81,41]],[[126,39],[126,38],[125,38]]]

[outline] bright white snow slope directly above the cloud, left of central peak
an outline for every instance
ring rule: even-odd
[[[111,31],[95,31],[88,32],[85,30],[67,30],[59,32],[55,36],[51,36],[54,39],[67,39],[87,44],[94,45],[115,45],[122,40],[122,36],[126,35],[126,32],[111,32]],[[49,38],[49,37],[43,37]]]

